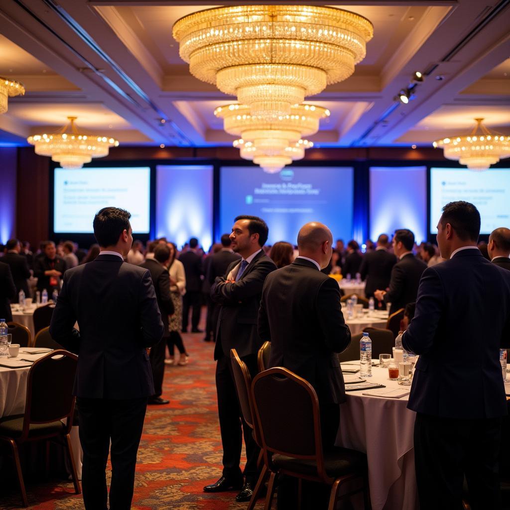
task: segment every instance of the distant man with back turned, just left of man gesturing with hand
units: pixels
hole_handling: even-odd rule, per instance
[[[388,252],[388,236],[381,234],[377,239],[375,251],[365,253],[361,263],[361,279],[366,278],[365,295],[373,297],[377,289],[384,289],[390,285],[391,270],[397,263],[393,253]]]

